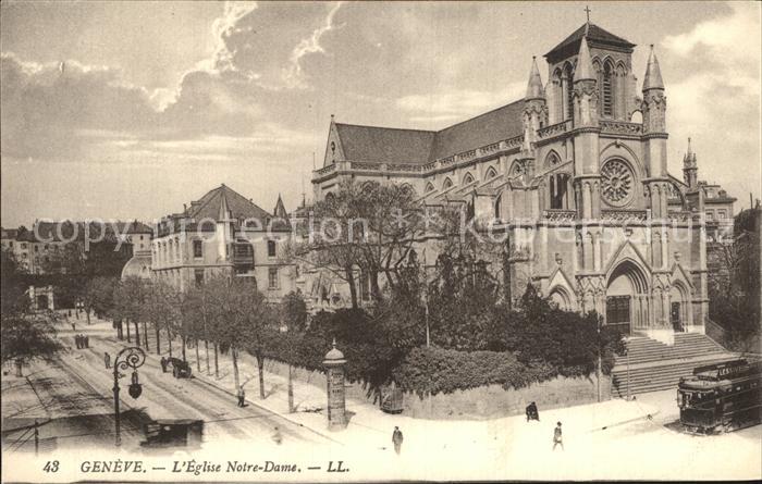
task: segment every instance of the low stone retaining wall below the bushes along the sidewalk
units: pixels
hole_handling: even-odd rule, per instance
[[[288,375],[288,367],[279,361],[267,360],[265,369],[282,376]],[[322,372],[298,368],[294,369],[294,378],[325,390],[325,375]],[[346,383],[347,398],[365,398],[373,404],[373,395],[367,394],[368,390],[361,383]],[[604,400],[611,398],[611,378],[605,375],[601,380],[601,397]],[[406,393],[403,414],[419,419],[481,420],[524,414],[526,406],[531,401],[537,402],[542,412],[552,408],[590,404],[597,399],[594,375],[589,378],[560,376],[519,389],[506,390],[500,385],[488,385],[452,394],[438,394],[430,398]]]

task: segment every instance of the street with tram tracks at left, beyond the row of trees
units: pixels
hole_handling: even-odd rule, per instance
[[[113,338],[112,331],[87,327],[83,323],[77,326],[77,332],[89,335],[90,347],[76,349],[74,332],[62,331],[60,337],[71,349],[52,364],[36,363],[29,376],[50,418],[70,420],[66,435],[61,433],[60,425],[40,427],[42,438],[59,437],[59,447],[113,442],[113,373],[105,368],[103,352],[113,357],[126,342]],[[234,396],[200,380],[176,380],[171,373],[162,374],[155,355],[147,356],[138,373],[143,395],[137,400],[127,394],[130,374],[120,378],[121,409],[126,412],[126,421],[122,422],[125,447],[138,445],[143,439],[140,423],[150,419],[200,419],[205,422],[205,443],[245,439],[248,445],[274,446],[271,437],[275,426],[280,429],[284,445],[290,442],[329,443],[319,434],[268,410],[253,405],[238,408]],[[83,419],[81,415],[90,417]],[[90,429],[93,425],[86,421],[97,421],[97,430]],[[54,431],[49,430],[53,427]],[[96,435],[107,438],[91,438]]]

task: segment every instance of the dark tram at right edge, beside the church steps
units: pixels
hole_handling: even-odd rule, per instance
[[[680,423],[701,434],[732,432],[760,423],[762,362],[726,361],[693,369],[677,385]]]

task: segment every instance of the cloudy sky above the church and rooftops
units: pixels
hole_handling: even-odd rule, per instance
[[[337,122],[440,129],[520,99],[579,2],[0,4],[0,222],[151,221],[224,183],[272,210],[310,198]],[[591,2],[649,45],[667,96],[669,171],[737,210],[760,198],[760,3]]]

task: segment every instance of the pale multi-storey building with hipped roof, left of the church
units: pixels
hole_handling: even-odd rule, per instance
[[[271,300],[294,290],[284,262],[291,226],[279,197],[269,213],[224,184],[161,219],[151,240],[151,274],[181,290],[214,274],[254,278]]]

